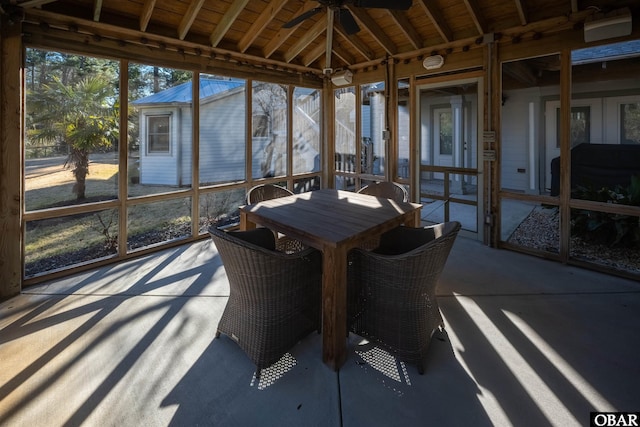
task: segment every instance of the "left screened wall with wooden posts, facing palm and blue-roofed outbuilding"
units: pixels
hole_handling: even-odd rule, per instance
[[[319,89],[42,49],[26,58],[26,279],[233,226],[259,182],[319,188]]]

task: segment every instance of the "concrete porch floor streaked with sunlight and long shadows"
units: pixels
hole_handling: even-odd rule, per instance
[[[0,425],[586,426],[640,410],[640,284],[459,237],[424,375],[311,334],[257,381],[214,339],[228,283],[205,240],[0,304]]]

